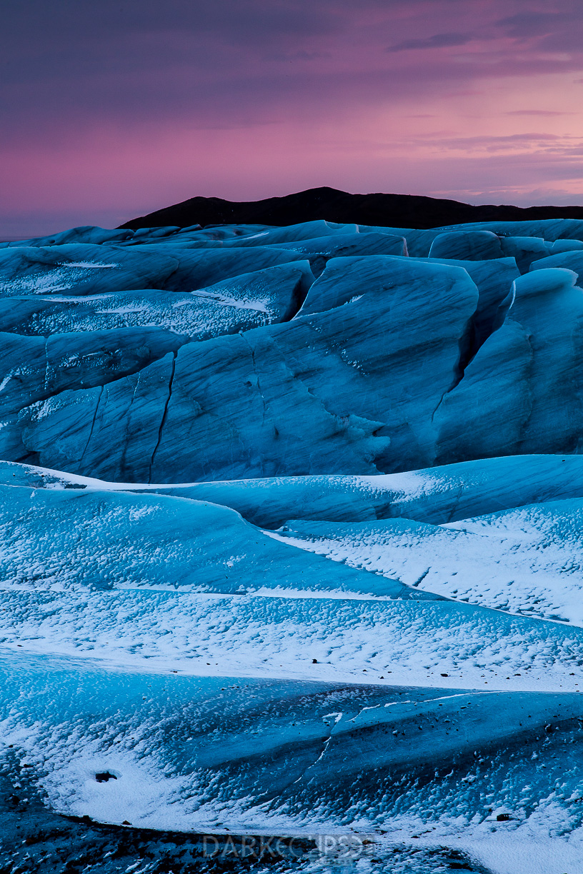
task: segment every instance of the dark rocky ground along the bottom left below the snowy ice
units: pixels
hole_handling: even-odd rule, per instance
[[[458,850],[369,844],[362,855],[323,853],[315,841],[103,825],[45,807],[25,773],[17,786],[0,775],[0,874],[489,874]],[[263,849],[261,850],[261,846]],[[259,851],[257,851],[259,850]],[[358,859],[360,865],[357,867]]]

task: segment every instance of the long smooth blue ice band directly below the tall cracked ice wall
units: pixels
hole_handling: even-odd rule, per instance
[[[286,519],[408,518],[445,524],[530,503],[583,497],[580,455],[517,455],[373,476],[267,477],[175,485],[104,482],[31,465],[0,462],[0,482],[33,489],[135,491],[223,504],[253,524]]]

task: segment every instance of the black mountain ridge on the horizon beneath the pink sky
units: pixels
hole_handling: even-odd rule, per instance
[[[120,227],[136,230],[168,225],[295,225],[316,218],[359,225],[431,228],[479,221],[583,218],[583,206],[473,206],[412,194],[350,194],[324,186],[265,200],[190,198],[132,218]]]

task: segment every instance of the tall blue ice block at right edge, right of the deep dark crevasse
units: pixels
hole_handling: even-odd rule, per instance
[[[578,451],[583,291],[576,281],[560,267],[517,279],[506,322],[435,415],[439,461],[510,454],[510,446],[527,454]]]

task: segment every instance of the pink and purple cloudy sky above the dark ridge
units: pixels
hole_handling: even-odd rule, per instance
[[[316,185],[583,204],[582,36],[573,0],[22,0],[0,234]]]

